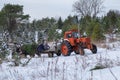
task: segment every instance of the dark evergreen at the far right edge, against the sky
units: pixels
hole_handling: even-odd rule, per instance
[[[115,10],[110,10],[107,16],[103,18],[103,29],[105,33],[113,34],[115,29],[119,28],[120,13]]]

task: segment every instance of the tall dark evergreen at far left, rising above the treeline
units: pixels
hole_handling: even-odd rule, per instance
[[[28,20],[29,15],[23,15],[23,6],[22,5],[13,5],[6,4],[2,10],[2,17],[0,20],[3,20],[1,25],[5,27],[5,30],[8,30],[10,37],[13,39],[13,33],[18,28],[18,25],[23,22],[23,20]]]

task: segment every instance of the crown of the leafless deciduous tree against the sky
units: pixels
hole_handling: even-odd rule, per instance
[[[78,0],[73,4],[73,10],[81,16],[96,17],[104,8],[102,4],[102,0]]]

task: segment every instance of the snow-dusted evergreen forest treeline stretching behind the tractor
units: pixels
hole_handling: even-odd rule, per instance
[[[79,2],[75,4],[77,3]],[[23,8],[24,6],[19,4],[5,4],[0,10],[0,33],[4,36],[4,41],[34,42],[36,31],[39,39],[44,35],[51,41],[62,38],[69,29],[80,29],[81,34],[86,33],[93,41],[102,41],[105,40],[105,34],[120,32],[118,10],[109,10],[101,17],[98,17],[97,13],[92,15],[91,12],[90,15],[69,15],[65,20],[61,17],[46,17],[30,22],[30,15],[24,14]],[[77,9],[75,5],[73,8]],[[62,30],[62,33],[57,30]]]

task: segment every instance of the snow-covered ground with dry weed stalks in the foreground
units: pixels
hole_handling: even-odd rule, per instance
[[[73,52],[67,57],[34,57],[26,66],[5,61],[0,64],[0,80],[120,80],[120,43],[108,45],[109,50],[98,48],[97,54],[85,50],[84,56]],[[92,70],[98,67],[103,69]]]

